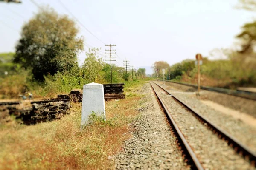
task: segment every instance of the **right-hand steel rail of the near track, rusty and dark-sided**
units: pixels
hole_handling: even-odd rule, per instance
[[[214,123],[210,122],[207,118],[202,116],[200,113],[195,111],[192,107],[187,105],[185,102],[182,102],[177,96],[171,94],[170,92],[166,91],[164,88],[162,88],[160,85],[154,82],[159,88],[161,88],[163,91],[165,91],[167,94],[170,94],[174,99],[176,99],[181,105],[183,105],[185,108],[187,108],[189,111],[194,113],[198,119],[201,119],[203,123],[207,123],[207,126],[215,133],[218,133],[218,137],[224,140],[228,141],[228,144],[235,149],[235,151],[239,154],[242,154],[245,158],[248,158],[251,162],[256,167],[256,154],[253,153],[247,146],[239,142],[236,138],[233,136],[230,136],[226,131],[222,130],[220,127],[215,125]],[[219,136],[221,135],[221,136]]]

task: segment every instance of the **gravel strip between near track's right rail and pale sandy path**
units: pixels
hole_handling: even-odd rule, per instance
[[[160,83],[156,82],[160,85]],[[166,84],[168,85],[168,84]],[[160,85],[166,89],[166,86]],[[172,88],[172,87],[171,87]],[[167,89],[166,89],[167,90]],[[249,147],[253,152],[256,153],[256,128],[246,123],[240,121],[239,119],[234,119],[230,115],[223,114],[211,108],[199,99],[196,98],[195,94],[180,94],[172,90],[167,90],[171,94],[177,96],[182,102],[185,102],[192,108],[195,108],[198,113],[212,121],[218,127],[225,130],[230,135],[234,136],[244,145]]]

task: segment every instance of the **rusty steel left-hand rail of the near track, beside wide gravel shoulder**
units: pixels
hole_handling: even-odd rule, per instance
[[[162,105],[162,108],[164,110],[164,112],[168,115],[169,119],[172,122],[172,126],[174,127],[173,130],[175,130],[177,132],[177,135],[179,136],[179,138],[181,139],[181,142],[183,143],[183,146],[185,147],[184,149],[186,150],[187,153],[189,153],[189,155],[186,155],[186,157],[189,157],[192,162],[190,162],[190,164],[192,165],[192,169],[197,169],[197,170],[204,170],[203,166],[201,165],[200,161],[197,159],[197,157],[195,156],[195,153],[193,152],[192,148],[189,146],[188,142],[186,141],[185,137],[183,136],[183,134],[181,133],[179,127],[177,126],[177,124],[175,123],[174,119],[172,118],[172,115],[169,113],[168,109],[166,108],[166,106],[163,104],[162,99],[160,98],[160,96],[157,94],[157,91],[154,89],[154,87],[151,84],[151,87],[154,90],[154,93],[157,97],[157,99],[159,100],[159,104]]]

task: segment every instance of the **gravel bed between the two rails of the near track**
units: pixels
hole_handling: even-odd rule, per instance
[[[153,85],[163,99],[169,112],[194,150],[199,161],[208,170],[250,170],[254,167],[235,153],[226,142],[208,130],[186,108],[166,95],[157,85]]]

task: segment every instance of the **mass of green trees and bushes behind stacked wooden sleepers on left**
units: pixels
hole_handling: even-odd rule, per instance
[[[84,42],[76,22],[42,8],[23,25],[15,53],[0,54],[0,99],[17,99],[26,91],[35,98],[49,98],[90,82],[111,83],[111,65],[104,62],[101,49],[89,48],[79,66],[77,56]],[[113,83],[143,78],[145,68],[126,71],[112,64]]]

